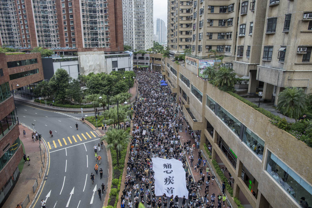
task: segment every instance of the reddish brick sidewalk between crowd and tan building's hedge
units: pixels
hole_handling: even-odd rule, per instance
[[[181,111],[179,111],[179,115],[178,115],[178,116],[179,116],[178,118],[180,118],[180,116],[182,116]],[[182,116],[182,117],[183,117],[183,116]],[[183,131],[182,131],[182,132],[179,132],[179,134],[180,134],[180,136],[181,136],[181,138],[180,138],[181,145],[183,145],[184,142],[187,142],[187,140],[190,139],[190,136],[189,136],[189,134],[188,134],[188,131],[187,131],[187,133],[185,133],[185,129],[184,129],[185,127],[187,127],[187,124],[186,124],[185,120],[183,119],[183,128],[182,128]],[[194,135],[195,135],[195,132],[196,132],[196,131],[194,131]],[[201,139],[202,139],[202,138],[201,138]],[[193,144],[193,143],[195,143],[195,141],[194,141],[194,139],[191,139],[191,144]],[[200,179],[199,170],[198,170],[198,172],[197,172],[197,170],[196,170],[196,172],[194,171],[194,165],[197,163],[197,160],[198,160],[198,152],[199,152],[199,149],[197,149],[196,146],[195,146],[195,150],[193,151],[193,155],[194,155],[193,167],[190,167],[190,171],[192,172],[193,177],[194,177],[194,179],[195,179],[196,182]],[[186,157],[187,157],[187,160],[188,160],[188,164],[190,165],[191,162],[190,162],[190,160],[188,159],[188,156],[189,156],[189,155],[186,154]],[[203,159],[204,159],[204,158],[205,158],[205,157],[203,156]],[[206,162],[206,167],[207,167],[207,164],[208,164],[208,161]],[[212,166],[212,164],[210,164],[210,166]],[[202,163],[201,163],[201,166],[200,166],[200,167],[202,167]],[[205,183],[206,183],[206,181],[207,181],[206,167],[203,168],[203,170],[202,170],[202,173],[205,174],[205,182],[204,182],[204,184],[202,185],[202,190],[198,190],[199,195],[200,195],[201,197],[203,197],[203,196],[204,196],[204,193],[205,193],[205,187],[206,187],[206,184],[205,184]],[[210,176],[212,176],[211,170],[209,171],[208,174],[210,174]],[[211,184],[211,183],[212,183],[212,180],[210,179],[209,197],[207,197],[207,198],[209,199],[209,203],[211,202],[210,196],[211,196],[213,193],[216,195],[216,200],[215,200],[215,202],[218,201],[218,200],[217,200],[218,194],[219,194],[219,193],[222,194],[222,190],[221,190],[220,187],[218,186],[216,179],[214,180],[214,183],[213,183],[213,184]],[[222,185],[221,185],[221,186],[222,186]],[[223,205],[223,203],[222,203],[222,205]],[[217,206],[217,204],[215,204],[215,206]],[[228,206],[228,203],[227,203],[227,201],[226,201],[225,207],[227,207],[227,206]]]

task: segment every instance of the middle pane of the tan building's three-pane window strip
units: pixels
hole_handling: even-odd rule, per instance
[[[241,122],[234,118],[220,105],[217,107],[217,116],[239,137],[241,131]]]

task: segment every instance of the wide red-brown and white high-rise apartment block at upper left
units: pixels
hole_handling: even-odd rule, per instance
[[[7,0],[0,9],[1,45],[66,52],[124,50],[120,0]]]

